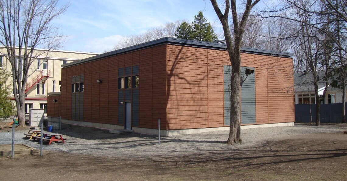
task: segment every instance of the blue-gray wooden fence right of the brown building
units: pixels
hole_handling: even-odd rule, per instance
[[[312,113],[312,122],[316,122],[316,105],[296,104],[295,105],[295,122],[309,123],[311,120],[310,108]],[[342,103],[321,104],[320,114],[321,123],[341,123]],[[347,102],[346,102],[347,113]],[[347,121],[347,117],[346,117]]]

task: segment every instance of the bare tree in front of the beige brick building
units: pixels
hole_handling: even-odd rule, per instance
[[[0,0],[0,43],[6,48],[5,56],[11,64],[20,126],[25,126],[28,70],[35,57],[40,56],[34,49],[39,47],[49,51],[60,47],[62,35],[52,26],[52,20],[67,7],[58,7],[58,0]]]

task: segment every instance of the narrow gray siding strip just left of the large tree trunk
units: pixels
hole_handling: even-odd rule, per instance
[[[230,124],[230,82],[231,65],[223,65],[223,82],[224,82],[224,124]]]

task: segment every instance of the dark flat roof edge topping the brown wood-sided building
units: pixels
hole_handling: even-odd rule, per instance
[[[189,47],[197,47],[197,48],[209,48],[209,49],[217,49],[217,50],[227,50],[227,45],[222,43],[214,43],[214,42],[206,42],[206,41],[197,41],[197,40],[187,40],[187,39],[180,39],[180,38],[170,38],[165,37],[141,44],[137,44],[131,47],[122,48],[115,51],[110,51],[104,54],[96,55],[90,58],[85,58],[82,60],[74,61],[68,64],[61,65],[61,67],[70,67],[78,64],[83,64],[89,61],[95,61],[102,58],[107,58],[115,55],[125,54],[127,52],[132,52],[136,50],[141,50],[145,48],[150,48],[154,46],[158,46],[161,44],[175,44],[175,45],[181,45],[181,46],[189,46]],[[288,52],[279,52],[279,51],[273,51],[273,50],[266,50],[266,49],[260,49],[260,48],[250,48],[250,47],[243,47],[241,48],[241,52],[245,53],[251,53],[251,54],[260,54],[260,55],[271,55],[271,56],[277,56],[277,57],[292,57],[292,53]]]

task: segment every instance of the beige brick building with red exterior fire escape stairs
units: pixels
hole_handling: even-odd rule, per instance
[[[28,72],[28,81],[25,97],[25,112],[29,113],[30,108],[42,108],[47,110],[47,93],[59,92],[61,87],[61,65],[84,58],[99,55],[98,53],[35,49],[35,60],[31,64]],[[0,47],[0,68],[11,73],[11,64],[6,58],[6,48]],[[9,77],[6,86],[12,90],[12,77]],[[46,114],[45,114],[46,115]]]

